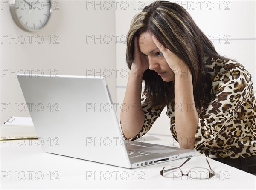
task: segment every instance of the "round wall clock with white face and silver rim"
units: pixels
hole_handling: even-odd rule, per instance
[[[42,29],[52,12],[50,0],[15,0],[11,14],[23,30],[35,32]]]

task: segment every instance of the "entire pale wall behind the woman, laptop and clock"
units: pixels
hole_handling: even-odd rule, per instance
[[[0,0],[1,3],[3,1]],[[9,3],[8,0],[6,2]],[[96,72],[111,70],[111,78],[107,78],[111,95],[114,102],[122,104],[128,72],[125,62],[125,37],[134,15],[153,1],[59,0],[55,2],[59,4],[55,3],[56,10],[52,11],[48,25],[36,33],[24,32],[18,28],[12,20],[9,7],[1,6],[1,38],[4,35],[12,38],[15,36],[18,38],[21,35],[34,35],[34,37],[31,44],[29,37],[24,44],[19,40],[17,43],[14,40],[9,43],[7,40],[0,44],[1,73],[8,72],[0,78],[2,109],[0,124],[10,116],[29,116],[28,110],[22,112],[23,110],[20,110],[22,107],[19,107],[25,103],[25,100],[17,78],[15,74],[9,76],[10,72],[15,72],[15,69],[17,72],[25,69],[27,73],[28,69],[34,69],[32,73],[41,69],[44,74],[48,74],[49,70],[55,74],[53,70],[58,69],[59,75],[86,75],[90,71],[88,69],[93,69],[93,74],[101,75]],[[108,2],[111,2],[111,9]],[[224,0],[219,3],[220,1],[206,0],[203,1],[201,8],[200,1],[176,2],[186,8],[207,36],[215,38],[213,43],[221,55],[236,58],[246,66],[253,76],[254,87],[256,87],[255,1]],[[210,10],[211,2],[214,7]],[[42,44],[35,42],[35,37],[38,35],[42,35],[44,39]],[[51,43],[49,43],[49,35],[51,35]],[[56,36],[53,37],[54,35]],[[89,35],[99,39],[102,37],[102,41],[91,40],[87,43],[86,39]],[[224,40],[219,42],[220,35],[224,40],[229,37],[227,41],[229,44],[224,43]],[[111,37],[111,43],[108,37]],[[57,40],[58,44],[54,44],[53,40]],[[115,73],[113,69],[119,69],[119,71]],[[3,109],[6,104],[8,107]],[[10,109],[9,106],[12,108]],[[165,112],[163,110],[161,117],[150,130],[151,133],[171,134]],[[117,109],[118,118],[119,114],[120,107]]]

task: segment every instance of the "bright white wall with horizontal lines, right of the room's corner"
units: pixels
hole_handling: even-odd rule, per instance
[[[153,1],[130,1],[128,9],[116,10],[116,34],[126,35],[132,18],[143,7]],[[256,1],[172,1],[183,6],[199,28],[212,39],[216,51],[227,58],[233,58],[250,71],[256,89]],[[136,6],[135,6],[136,5]],[[140,6],[143,5],[139,9]],[[120,41],[116,46],[118,69],[128,69],[125,62],[126,44]],[[117,78],[117,102],[122,104],[127,77]],[[119,109],[120,111],[120,109]],[[118,115],[119,116],[119,115]],[[151,128],[151,134],[171,135],[166,108]]]

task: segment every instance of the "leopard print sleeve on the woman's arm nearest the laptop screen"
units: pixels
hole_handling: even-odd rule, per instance
[[[142,107],[142,111],[144,112],[144,124],[140,132],[137,135],[135,135],[133,138],[128,139],[122,133],[125,140],[134,141],[137,138],[140,138],[143,135],[145,135],[150,130],[150,128],[152,127],[156,119],[160,116],[161,112],[163,111],[164,106],[153,106],[150,103],[145,103],[145,100],[146,100],[146,96],[143,95],[141,98],[141,107]]]

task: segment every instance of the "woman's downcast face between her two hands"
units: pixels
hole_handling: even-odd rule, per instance
[[[151,32],[144,32],[140,35],[138,40],[140,52],[147,58],[150,70],[157,72],[165,82],[173,81],[174,72],[152,40],[152,35]]]

